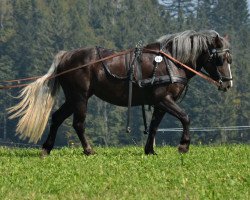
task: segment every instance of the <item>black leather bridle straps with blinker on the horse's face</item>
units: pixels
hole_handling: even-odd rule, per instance
[[[231,55],[230,50],[229,49],[211,49],[209,50],[209,58],[208,58],[208,62],[212,63],[213,66],[216,67],[216,79],[219,81],[220,84],[222,84],[223,82],[227,82],[227,81],[231,81],[233,80],[233,78],[228,77],[228,76],[222,76],[221,73],[218,70],[219,66],[223,65],[223,61],[220,59],[219,54],[222,53],[226,53],[227,55],[227,62],[231,63],[229,57]]]

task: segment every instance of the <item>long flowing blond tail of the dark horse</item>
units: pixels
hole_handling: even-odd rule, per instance
[[[52,78],[66,51],[60,51],[44,76],[30,83],[20,92],[17,97],[21,101],[8,108],[10,119],[19,118],[16,134],[21,139],[29,139],[29,142],[37,143],[46,128],[48,118],[54,105],[56,94],[59,90],[59,82]],[[51,78],[50,78],[51,77]]]

